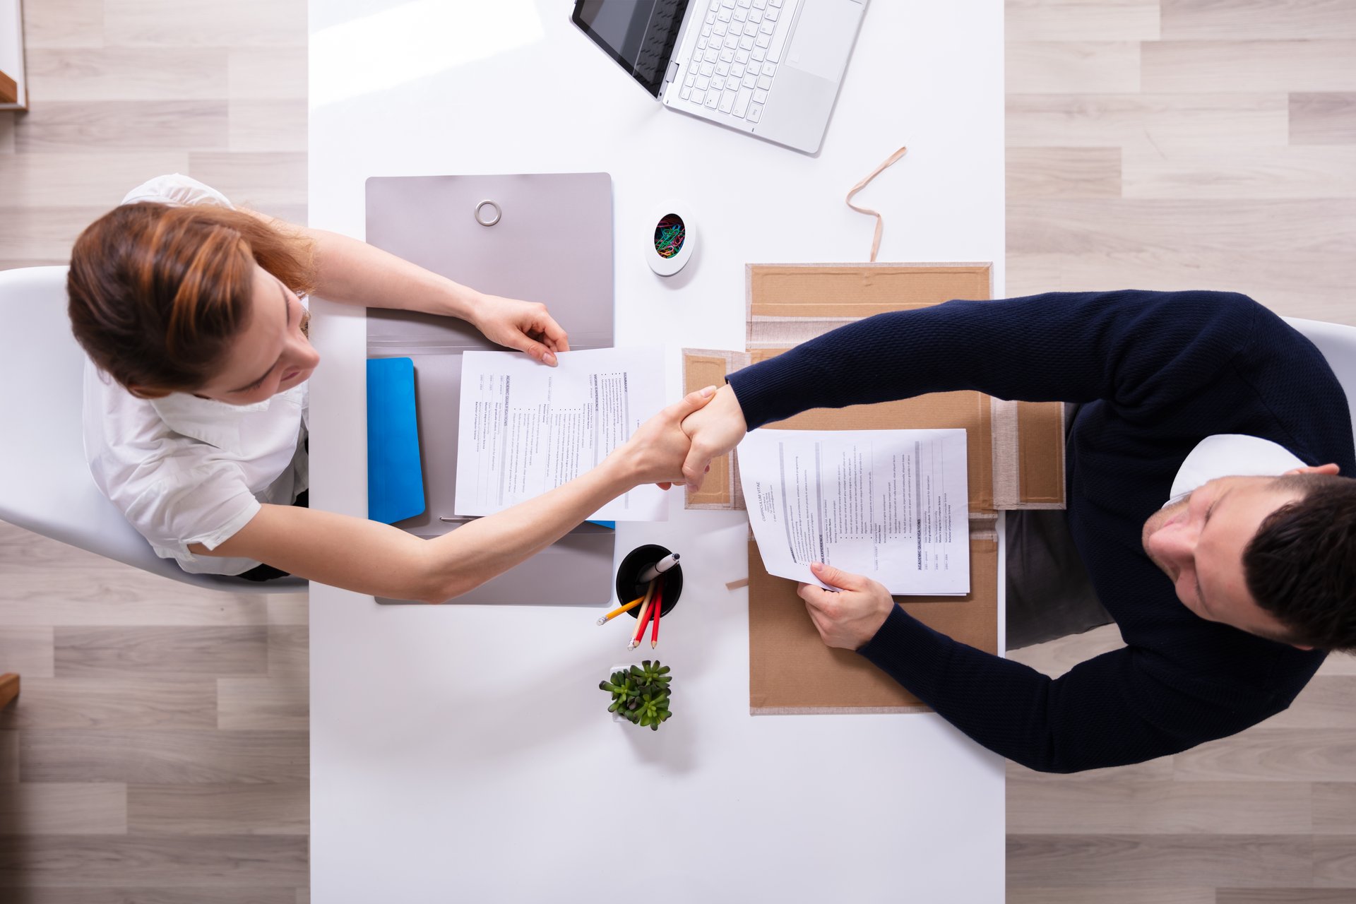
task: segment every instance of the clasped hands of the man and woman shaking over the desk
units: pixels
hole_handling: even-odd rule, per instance
[[[643,423],[609,455],[626,482],[701,487],[711,459],[739,445],[749,426],[728,385],[687,393]]]

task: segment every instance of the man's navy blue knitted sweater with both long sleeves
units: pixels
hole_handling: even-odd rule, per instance
[[[1243,295],[951,301],[842,327],[728,381],[750,430],[810,408],[956,389],[1083,403],[1066,451],[1069,525],[1127,646],[1050,679],[896,606],[860,651],[997,754],[1051,773],[1174,754],[1281,712],[1323,660],[1195,615],[1140,542],[1182,459],[1214,434],[1261,436],[1356,474],[1332,370]]]

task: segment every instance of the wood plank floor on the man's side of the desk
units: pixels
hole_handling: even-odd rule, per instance
[[[1009,0],[1008,148],[1009,294],[1231,289],[1356,324],[1352,0]],[[1010,904],[1356,901],[1349,657],[1234,739],[1008,777]]]

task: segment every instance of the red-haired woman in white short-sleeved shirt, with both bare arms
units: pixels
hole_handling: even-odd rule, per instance
[[[85,454],[95,482],[156,553],[194,573],[285,573],[442,602],[546,548],[607,500],[682,476],[682,419],[650,419],[594,470],[437,539],[306,506],[306,295],[461,317],[555,365],[545,306],[487,295],[365,243],[236,209],[161,176],[76,241],[71,323],[89,355]]]

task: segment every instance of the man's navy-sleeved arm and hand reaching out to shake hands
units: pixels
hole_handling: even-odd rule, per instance
[[[1050,293],[876,314],[727,377],[683,423],[689,487],[747,430],[811,408],[976,389],[1022,401],[1112,400],[1153,417],[1214,379],[1262,309],[1215,291]]]

